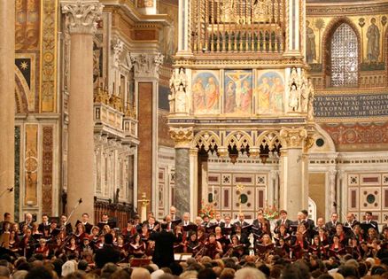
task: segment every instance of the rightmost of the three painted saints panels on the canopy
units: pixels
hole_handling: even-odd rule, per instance
[[[258,112],[263,114],[283,112],[283,72],[259,71],[257,82]]]

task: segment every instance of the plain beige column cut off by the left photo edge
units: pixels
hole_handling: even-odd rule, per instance
[[[0,212],[14,212],[15,1],[0,1]],[[2,217],[3,218],[3,217]]]

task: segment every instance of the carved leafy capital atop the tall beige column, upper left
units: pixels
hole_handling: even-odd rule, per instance
[[[62,13],[68,19],[70,34],[90,34],[97,30],[97,20],[103,12],[103,4],[97,0],[65,0]]]

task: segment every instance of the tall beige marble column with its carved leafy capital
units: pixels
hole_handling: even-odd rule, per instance
[[[82,199],[71,221],[89,213],[94,222],[93,35],[102,12],[97,0],[62,1],[70,33],[70,95],[67,159],[67,214]]]

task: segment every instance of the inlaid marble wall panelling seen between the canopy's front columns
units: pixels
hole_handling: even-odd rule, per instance
[[[236,219],[241,210],[246,219],[253,219],[256,211],[266,206],[268,189],[266,173],[210,172],[207,179],[208,193],[214,192],[214,207],[222,215],[230,214]],[[244,188],[240,190],[237,185]]]

